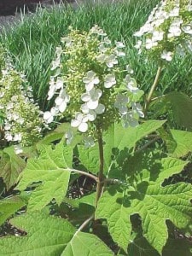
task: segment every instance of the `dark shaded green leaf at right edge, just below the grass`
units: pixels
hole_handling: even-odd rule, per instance
[[[192,128],[192,100],[182,92],[174,91],[166,95],[166,102],[171,103],[173,119],[177,125]]]

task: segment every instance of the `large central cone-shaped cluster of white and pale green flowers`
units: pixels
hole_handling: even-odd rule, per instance
[[[120,58],[125,56],[122,42],[112,46],[107,34],[99,26],[90,32],[71,30],[64,45],[56,48],[51,69],[48,100],[54,97],[55,105],[44,113],[47,124],[55,116],[71,118],[67,143],[73,139],[73,129],[84,133],[84,145],[94,145],[94,127],[107,129],[113,121],[122,120],[125,127],[138,124],[143,117],[138,103],[143,91],[131,78],[131,67],[122,68]],[[125,79],[124,79],[124,78]]]

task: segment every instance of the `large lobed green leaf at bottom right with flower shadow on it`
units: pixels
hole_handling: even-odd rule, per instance
[[[189,224],[192,186],[177,183],[162,187],[167,177],[181,172],[186,164],[174,158],[161,159],[152,153],[136,154],[125,160],[121,172],[125,173],[126,183],[106,191],[96,209],[96,218],[107,219],[109,232],[120,247],[126,250],[131,241],[133,214],[140,215],[143,236],[159,253],[168,237],[166,219],[178,228]]]

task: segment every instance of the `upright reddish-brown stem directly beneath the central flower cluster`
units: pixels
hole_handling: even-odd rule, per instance
[[[96,207],[99,201],[99,198],[102,194],[102,187],[103,187],[103,171],[104,171],[104,154],[103,154],[103,141],[102,141],[102,129],[100,126],[97,126],[97,135],[98,135],[98,145],[99,145],[99,173],[98,173],[98,180],[96,184]]]

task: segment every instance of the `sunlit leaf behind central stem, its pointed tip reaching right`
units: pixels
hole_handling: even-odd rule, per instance
[[[110,172],[114,148],[118,148],[118,150],[133,148],[140,139],[156,131],[164,123],[164,120],[148,120],[142,125],[134,128],[128,127],[126,129],[121,124],[112,125],[103,137],[103,141],[105,142],[104,172],[106,174]],[[98,144],[93,148],[86,149],[83,146],[79,146],[78,149],[79,159],[84,167],[90,172],[97,173],[99,170]]]

